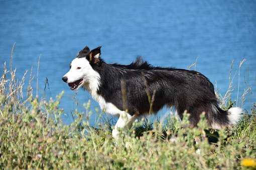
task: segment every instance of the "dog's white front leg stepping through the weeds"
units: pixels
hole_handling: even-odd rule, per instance
[[[136,115],[130,115],[129,113],[122,111],[120,113],[120,116],[112,130],[112,136],[114,139],[118,139],[119,137],[119,131],[118,128],[124,129],[124,128],[130,128],[133,124],[133,121],[136,119]]]

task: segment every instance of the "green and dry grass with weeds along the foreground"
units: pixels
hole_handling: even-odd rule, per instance
[[[30,75],[30,77],[32,77]],[[62,123],[55,99],[33,97],[31,80],[4,68],[0,78],[0,168],[55,169],[240,169],[256,168],[256,105],[232,128],[207,128],[204,115],[197,128],[168,116],[166,123],[139,121],[111,137],[109,121],[90,126],[90,103],[74,122]],[[156,101],[157,102],[157,101]],[[233,102],[225,100],[223,107]]]

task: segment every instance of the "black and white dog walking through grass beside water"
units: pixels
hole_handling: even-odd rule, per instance
[[[137,116],[157,112],[165,105],[174,106],[180,118],[185,110],[190,113],[191,126],[197,125],[202,112],[217,129],[240,119],[242,108],[221,109],[213,84],[200,72],[156,67],[140,57],[129,65],[108,64],[100,58],[100,47],[90,50],[85,46],[62,79],[72,90],[88,90],[105,112],[120,115],[112,131],[114,138],[117,128],[130,126]],[[121,84],[125,84],[124,92]],[[153,104],[149,96],[154,97]]]

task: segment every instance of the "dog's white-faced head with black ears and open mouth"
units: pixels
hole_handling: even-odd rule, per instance
[[[70,89],[78,89],[84,83],[95,76],[96,71],[93,69],[99,61],[100,47],[90,49],[85,46],[70,63],[70,70],[62,77],[67,82]]]

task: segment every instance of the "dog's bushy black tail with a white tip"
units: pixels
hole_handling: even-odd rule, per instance
[[[208,120],[212,128],[220,129],[236,124],[241,119],[243,112],[244,110],[240,107],[223,110],[217,104],[213,104]]]

